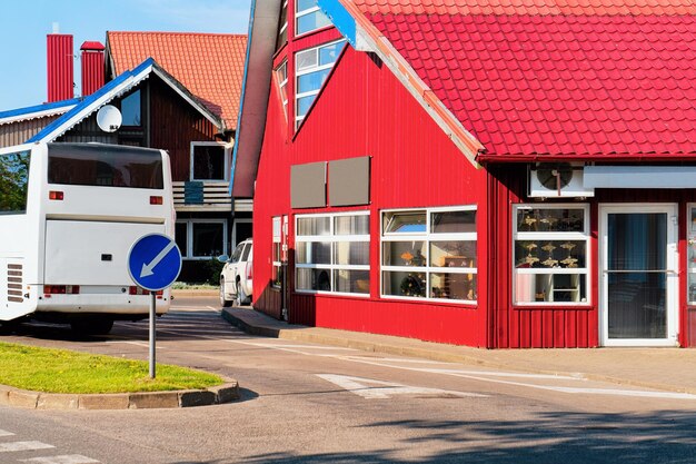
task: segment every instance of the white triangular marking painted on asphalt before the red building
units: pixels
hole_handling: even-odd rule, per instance
[[[381,382],[371,378],[349,377],[347,375],[335,374],[317,374],[317,377],[324,378],[350,393],[362,396],[368,399],[389,398],[394,395],[425,395],[439,397],[487,397],[478,393],[454,392],[450,389],[414,387],[408,385],[395,384],[392,382]],[[369,386],[374,385],[374,386]]]

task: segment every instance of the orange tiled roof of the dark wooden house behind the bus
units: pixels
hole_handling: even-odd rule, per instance
[[[107,32],[115,73],[153,58],[167,72],[225,119],[237,126],[247,36],[188,32]]]

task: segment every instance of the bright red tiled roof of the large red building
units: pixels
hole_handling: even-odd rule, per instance
[[[489,155],[696,152],[689,0],[352,0]]]

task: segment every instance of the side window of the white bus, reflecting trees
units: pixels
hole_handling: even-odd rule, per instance
[[[30,151],[0,155],[0,215],[27,211]]]

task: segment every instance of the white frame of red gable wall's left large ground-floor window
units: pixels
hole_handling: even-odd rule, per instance
[[[342,243],[342,241],[366,241],[370,244],[370,234],[365,235],[335,235],[335,221],[336,217],[340,216],[367,216],[368,220],[370,220],[370,211],[369,210],[358,210],[358,211],[346,211],[346,213],[327,213],[327,214],[310,214],[310,215],[296,215],[295,216],[295,246],[297,247],[298,243],[330,243],[331,244],[331,261],[334,261],[334,244]],[[329,235],[298,235],[297,231],[299,219],[310,218],[310,217],[328,217],[330,220],[329,226]],[[369,263],[369,256],[368,256]],[[330,270],[329,280],[331,283],[331,287],[334,287],[334,270],[370,270],[370,266],[368,265],[337,265],[337,264],[300,264],[295,263],[295,292],[301,294],[319,294],[319,295],[349,295],[356,296],[360,298],[369,298],[370,293],[359,294],[359,293],[350,293],[350,292],[327,292],[327,290],[312,290],[312,289],[300,289],[298,288],[297,279],[299,276],[298,269],[327,269]]]

